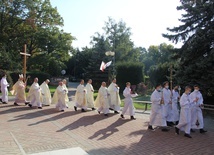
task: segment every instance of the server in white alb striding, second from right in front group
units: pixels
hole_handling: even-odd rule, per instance
[[[181,106],[181,113],[178,125],[175,126],[175,133],[179,135],[179,130],[183,130],[185,132],[184,136],[188,138],[192,138],[190,136],[190,129],[191,129],[191,106],[194,102],[198,101],[196,97],[194,100],[190,100],[190,92],[191,87],[186,86],[185,92],[181,96],[180,99],[180,106]]]

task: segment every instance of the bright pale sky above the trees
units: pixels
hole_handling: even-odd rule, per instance
[[[160,45],[165,42],[175,47],[162,37],[167,33],[167,27],[179,26],[180,11],[176,7],[179,0],[50,0],[57,7],[64,19],[62,29],[71,33],[77,40],[73,41],[75,48],[90,47],[91,36],[95,32],[103,33],[102,27],[108,17],[116,22],[123,20],[131,28],[131,40],[136,47],[148,48],[150,45]]]

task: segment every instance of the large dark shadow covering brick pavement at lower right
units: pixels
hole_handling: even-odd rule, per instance
[[[213,154],[213,134],[192,134],[189,139],[180,135],[175,135],[174,130],[161,132],[161,130],[148,131],[139,130],[127,136],[142,135],[139,142],[133,142],[130,146],[120,145],[111,148],[97,148],[87,151],[90,155],[186,155],[186,154]],[[211,136],[212,135],[212,136]],[[202,140],[202,141],[201,141]],[[200,141],[200,142],[199,142]],[[206,142],[205,142],[206,141]],[[124,142],[121,140],[121,142]],[[107,146],[108,147],[108,146]],[[191,153],[190,153],[191,152]]]

